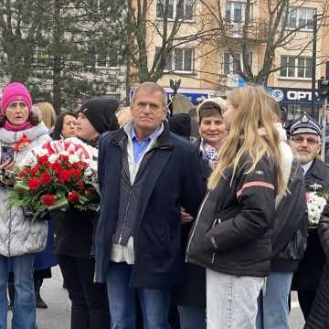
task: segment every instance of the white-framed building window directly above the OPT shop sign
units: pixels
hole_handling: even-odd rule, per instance
[[[296,58],[281,56],[281,77],[286,78],[312,78],[312,58]]]

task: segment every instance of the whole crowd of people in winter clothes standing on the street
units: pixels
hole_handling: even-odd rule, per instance
[[[8,305],[13,329],[37,327],[57,264],[71,329],[286,329],[292,290],[305,328],[328,327],[329,207],[318,228],[308,218],[329,188],[319,123],[303,114],[286,131],[258,86],[203,101],[193,118],[167,104],[143,82],[130,108],[94,98],[56,115],[23,84],[5,86],[1,150],[29,144],[0,164],[0,329]],[[9,203],[17,164],[70,137],[99,150],[99,211],[26,220]]]

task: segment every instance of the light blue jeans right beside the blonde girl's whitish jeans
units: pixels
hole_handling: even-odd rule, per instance
[[[293,272],[271,271],[266,281],[266,291],[260,293],[257,329],[288,328],[292,275]]]

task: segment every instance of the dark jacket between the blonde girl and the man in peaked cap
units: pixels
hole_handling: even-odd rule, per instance
[[[288,193],[281,200],[272,223],[271,271],[296,271],[307,244],[307,204],[302,166],[294,159]]]

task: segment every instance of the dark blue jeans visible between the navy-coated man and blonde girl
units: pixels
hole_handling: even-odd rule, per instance
[[[206,329],[206,309],[178,306],[181,329]]]

